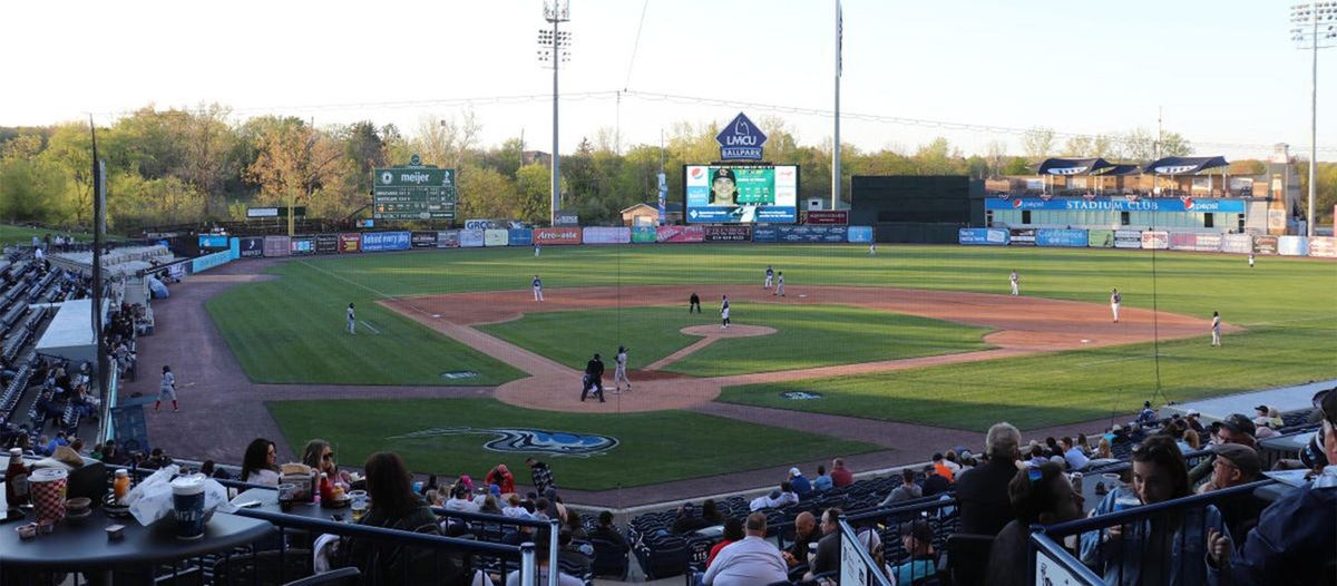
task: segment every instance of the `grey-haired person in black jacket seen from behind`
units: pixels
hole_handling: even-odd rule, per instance
[[[988,462],[961,474],[956,499],[961,503],[961,532],[997,535],[1012,520],[1008,483],[1016,475],[1021,433],[1009,423],[997,423],[984,437]]]

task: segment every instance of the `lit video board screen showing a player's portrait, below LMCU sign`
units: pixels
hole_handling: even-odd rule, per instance
[[[798,166],[685,165],[687,223],[798,222]]]

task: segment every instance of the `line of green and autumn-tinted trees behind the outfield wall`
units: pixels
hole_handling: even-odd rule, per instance
[[[758,120],[769,140],[766,158],[800,165],[800,197],[830,197],[832,144],[798,143],[779,118]],[[548,161],[532,155],[521,138],[481,144],[481,122],[472,114],[441,120],[424,116],[405,132],[370,120],[316,126],[297,116],[263,115],[235,122],[230,108],[158,110],[152,106],[98,128],[107,162],[108,225],[131,231],[155,225],[242,219],[249,206],[305,206],[309,217],[369,217],[372,170],[424,163],[459,170],[457,218],[516,218],[544,223],[550,215]],[[618,223],[620,210],[656,199],[658,173],[667,174],[670,201],[681,199],[682,166],[719,158],[717,124],[681,122],[664,144],[618,149],[611,128],[596,128],[562,158],[562,209],[583,223]],[[1189,154],[1191,143],[1170,132],[1159,153]],[[1106,157],[1146,162],[1157,139],[1146,130],[1070,138],[1034,128],[1021,138],[1024,154],[993,142],[984,154],[965,155],[945,138],[913,150],[861,150],[844,144],[841,171],[849,198],[853,175],[1032,174],[1051,155]],[[92,138],[88,124],[0,127],[0,218],[60,227],[92,221]],[[1337,166],[1322,170],[1332,209]],[[1322,206],[1321,206],[1322,207]]]

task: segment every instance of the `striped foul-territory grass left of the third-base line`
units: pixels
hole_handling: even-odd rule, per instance
[[[283,278],[237,286],[205,306],[254,383],[492,385],[523,375],[376,305],[377,297],[289,262]],[[360,321],[356,336],[345,330],[349,302]],[[479,376],[447,381],[447,371]]]

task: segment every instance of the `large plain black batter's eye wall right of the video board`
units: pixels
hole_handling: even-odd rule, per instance
[[[849,223],[873,226],[878,242],[956,243],[983,225],[984,182],[965,175],[854,175]]]

